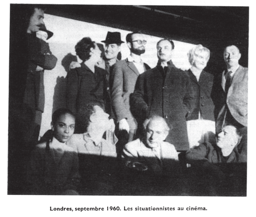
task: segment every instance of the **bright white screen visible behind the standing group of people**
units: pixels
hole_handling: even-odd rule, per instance
[[[65,107],[67,65],[76,55],[76,43],[83,37],[90,37],[96,43],[102,43],[101,41],[105,40],[108,31],[119,31],[122,41],[125,41],[126,35],[131,32],[49,14],[45,14],[44,17],[47,29],[54,33],[47,42],[52,54],[58,58],[58,62],[54,69],[45,70],[44,73],[45,108],[42,115],[40,137],[50,129],[52,112],[58,108]],[[151,68],[157,64],[156,44],[160,39],[160,37],[145,35],[147,44],[145,54],[142,54],[142,59]],[[173,63],[177,68],[189,69],[187,52],[194,45],[175,40],[174,43]],[[102,44],[104,45],[104,43]],[[130,54],[126,43],[121,45],[121,54],[122,59],[125,59]]]

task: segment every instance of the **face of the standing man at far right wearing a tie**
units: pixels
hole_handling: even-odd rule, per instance
[[[224,60],[227,65],[227,68],[238,66],[240,58],[241,54],[236,46],[232,45],[226,47],[224,51]]]

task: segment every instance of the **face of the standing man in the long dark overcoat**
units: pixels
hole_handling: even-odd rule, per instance
[[[162,40],[157,44],[157,57],[161,62],[172,59],[172,44],[168,40]]]

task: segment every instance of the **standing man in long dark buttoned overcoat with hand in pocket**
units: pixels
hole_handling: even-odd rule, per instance
[[[194,106],[194,93],[189,76],[172,63],[172,40],[157,43],[158,65],[138,77],[134,94],[131,95],[131,111],[137,120],[159,115],[173,126],[166,142],[177,151],[189,149],[186,117]]]

